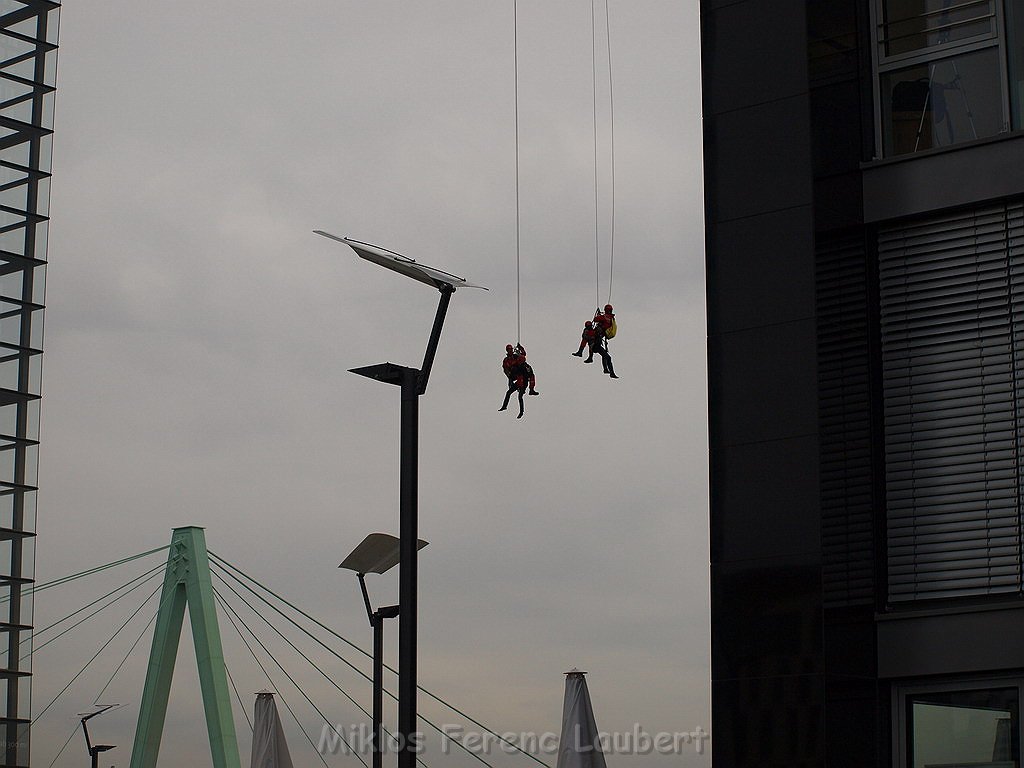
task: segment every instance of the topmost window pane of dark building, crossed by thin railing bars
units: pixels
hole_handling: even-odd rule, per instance
[[[885,0],[885,55],[995,35],[995,0]]]

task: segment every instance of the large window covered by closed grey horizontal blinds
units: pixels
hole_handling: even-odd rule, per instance
[[[1024,207],[879,233],[890,602],[1021,591]]]

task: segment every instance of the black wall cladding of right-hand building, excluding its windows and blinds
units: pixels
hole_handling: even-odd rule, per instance
[[[715,765],[902,765],[896,686],[1019,674],[1024,603],[889,599],[878,231],[1024,135],[878,160],[868,0],[700,5]]]

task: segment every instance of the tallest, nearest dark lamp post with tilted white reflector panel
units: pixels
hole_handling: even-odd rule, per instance
[[[458,288],[483,288],[465,279],[436,267],[419,264],[413,259],[369,243],[314,230],[316,234],[344,243],[359,258],[373,261],[392,271],[399,272],[440,292],[434,325],[430,329],[427,350],[419,369],[382,362],[377,366],[354,368],[353,374],[395,384],[401,387],[401,469],[399,496],[399,564],[398,564],[398,734],[400,749],[398,768],[416,765],[416,579],[417,542],[419,542],[419,514],[417,511],[420,395],[427,391],[427,380],[437,351],[437,342],[444,325],[452,294]],[[486,290],[483,288],[483,290]]]

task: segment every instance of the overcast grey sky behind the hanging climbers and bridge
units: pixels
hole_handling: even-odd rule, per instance
[[[398,399],[346,371],[418,365],[436,293],[311,233],[324,228],[490,288],[455,295],[421,406],[421,682],[499,730],[557,730],[574,666],[590,673],[602,729],[710,727],[697,3],[610,0],[611,381],[569,356],[598,298],[591,4],[518,2],[522,342],[542,392],[518,422],[497,413],[516,333],[512,8],[65,5],[37,578],[198,524],[213,551],[369,641],[355,581],[336,565],[367,532],[397,532]],[[605,67],[599,56],[606,196]],[[606,260],[600,280],[603,303]],[[41,594],[37,626],[145,567]],[[396,580],[374,589],[388,601]],[[148,590],[39,651],[37,712]],[[36,764],[139,632],[46,714]],[[223,632],[240,688],[266,687]],[[104,695],[127,705],[102,726],[119,765],[145,651],[147,640]],[[302,676],[332,719],[356,722]],[[369,703],[367,686],[345,685]],[[318,765],[288,728],[296,763]],[[76,740],[57,766],[79,753]],[[209,764],[187,649],[162,764]],[[613,764],[709,763],[686,752]]]

